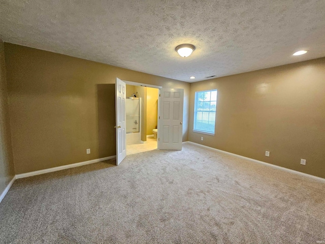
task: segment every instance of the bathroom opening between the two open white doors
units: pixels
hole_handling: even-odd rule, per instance
[[[126,100],[139,103],[139,109],[125,108],[126,128],[130,129],[126,131],[126,155],[157,149],[159,88],[125,82]],[[139,116],[135,111],[139,111]]]

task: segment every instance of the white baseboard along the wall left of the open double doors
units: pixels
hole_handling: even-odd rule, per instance
[[[114,158],[116,158],[116,155],[101,158],[101,159],[88,160],[88,161],[75,163],[75,164],[62,165],[62,166],[49,168],[49,169],[42,169],[42,170],[32,171],[32,172],[23,173],[23,174],[16,174],[16,179],[25,178],[25,177],[34,176],[34,175],[39,175],[39,174],[46,174],[46,173],[59,171],[59,170],[63,170],[63,169],[75,168],[75,167],[79,167],[79,166],[83,166],[83,165],[87,165],[87,164],[94,164],[94,163],[98,163],[98,162],[101,162],[101,161],[114,159]]]

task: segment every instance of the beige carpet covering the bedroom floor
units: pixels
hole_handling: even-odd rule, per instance
[[[317,243],[325,184],[184,143],[18,179],[1,243]]]

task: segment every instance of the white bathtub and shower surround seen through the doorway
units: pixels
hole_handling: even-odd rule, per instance
[[[141,143],[141,98],[126,98],[126,144]]]

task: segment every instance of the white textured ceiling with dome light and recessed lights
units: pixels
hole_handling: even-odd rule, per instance
[[[187,82],[323,57],[324,23],[324,0],[0,0],[5,42]]]

